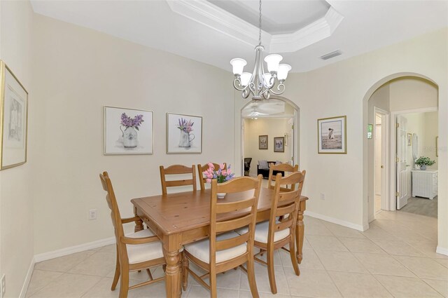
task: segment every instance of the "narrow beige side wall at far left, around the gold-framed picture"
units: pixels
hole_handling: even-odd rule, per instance
[[[0,1],[0,59],[29,92],[28,162],[0,172],[0,276],[6,275],[6,297],[19,297],[34,255],[34,109],[38,104],[31,81],[32,22],[28,1]]]

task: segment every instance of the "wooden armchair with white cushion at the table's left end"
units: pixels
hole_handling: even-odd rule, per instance
[[[103,172],[102,174],[99,174],[99,178],[101,179],[103,189],[107,191],[106,201],[111,209],[112,224],[116,238],[116,269],[111,290],[116,289],[118,279],[121,276],[120,297],[127,297],[128,290],[144,285],[150,285],[151,283],[165,279],[165,276],[154,279],[151,275],[151,271],[149,271],[153,266],[165,265],[162,243],[149,229],[144,229],[137,233],[131,233],[125,236],[123,224],[139,222],[141,219],[139,217],[121,218],[109,174]],[[146,269],[148,272],[149,280],[130,287],[130,271],[141,271],[143,269]]]

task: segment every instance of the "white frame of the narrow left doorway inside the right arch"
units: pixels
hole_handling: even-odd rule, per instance
[[[381,115],[381,159],[384,161],[384,175],[381,175],[381,209],[383,210],[392,210],[391,209],[391,201],[393,201],[391,196],[388,196],[390,187],[390,179],[389,175],[389,126],[390,126],[390,113],[384,109],[380,109],[379,107],[373,107],[374,116],[376,119],[377,114]],[[375,120],[375,130],[374,137],[376,138],[377,130],[376,130],[376,120]],[[375,139],[374,139],[375,140]],[[377,144],[373,142],[373,165],[376,165],[376,153]],[[375,175],[373,178],[373,189],[375,189]],[[373,207],[374,208],[374,207]],[[375,212],[374,217],[375,217]]]

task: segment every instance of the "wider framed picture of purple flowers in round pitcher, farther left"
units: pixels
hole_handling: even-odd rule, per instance
[[[104,154],[153,154],[152,111],[104,107]]]

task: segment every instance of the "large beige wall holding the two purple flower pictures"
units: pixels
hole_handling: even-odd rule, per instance
[[[232,74],[41,15],[34,26],[36,254],[113,236],[103,170],[127,217],[131,198],[160,194],[159,165],[232,163]],[[154,111],[154,154],[104,156],[104,105]],[[167,112],[203,117],[202,154],[165,153]]]

